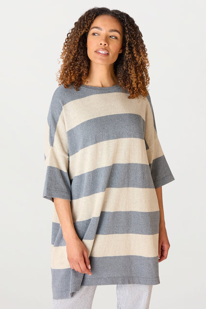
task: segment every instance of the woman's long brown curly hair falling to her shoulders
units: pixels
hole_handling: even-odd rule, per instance
[[[106,7],[94,7],[86,11],[74,24],[63,44],[60,58],[62,64],[57,72],[56,80],[64,87],[74,84],[78,88],[86,81],[89,73],[90,59],[87,55],[87,35],[94,19],[99,15],[110,15],[119,20],[123,28],[123,52],[118,55],[114,65],[114,73],[118,84],[128,90],[129,99],[148,95],[149,60],[142,33],[134,19],[119,10]]]

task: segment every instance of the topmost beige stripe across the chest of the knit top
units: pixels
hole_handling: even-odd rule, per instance
[[[74,100],[63,106],[66,130],[68,131],[84,121],[112,114],[134,113],[145,119],[145,103],[147,101],[142,96],[128,99],[126,93],[104,93]]]

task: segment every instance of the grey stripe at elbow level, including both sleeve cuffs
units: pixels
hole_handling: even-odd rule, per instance
[[[103,182],[103,179],[106,181]],[[157,188],[172,180],[174,177],[164,155],[154,159],[150,165],[115,163],[75,176],[73,180],[69,179],[68,173],[48,166],[43,197],[51,201],[52,197],[71,201],[104,192],[106,188]]]

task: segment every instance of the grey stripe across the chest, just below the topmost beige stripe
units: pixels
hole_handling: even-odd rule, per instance
[[[69,155],[110,139],[126,137],[144,139],[144,132],[145,121],[137,114],[113,114],[89,119],[67,131]]]

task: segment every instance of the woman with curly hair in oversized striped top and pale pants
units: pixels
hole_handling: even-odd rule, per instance
[[[85,12],[67,34],[48,114],[43,197],[51,200],[54,308],[149,308],[170,247],[162,185],[174,177],[148,93],[142,34],[126,13]]]

